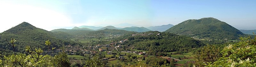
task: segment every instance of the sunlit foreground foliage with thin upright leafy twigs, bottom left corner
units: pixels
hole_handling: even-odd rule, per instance
[[[8,44],[15,47],[15,39],[11,39]],[[59,53],[54,57],[47,55],[51,50],[55,48],[50,48],[51,42],[49,40],[45,41],[44,49],[48,49],[47,51],[43,51],[41,48],[33,48],[31,46],[26,47],[26,51],[28,54],[16,53],[10,56],[4,56],[3,59],[0,60],[0,66],[15,66],[15,67],[70,67],[69,60],[67,55],[64,53]]]

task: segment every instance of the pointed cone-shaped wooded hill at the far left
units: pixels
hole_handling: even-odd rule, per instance
[[[15,42],[15,50],[18,52],[25,52],[26,46],[34,46],[34,47],[43,47],[46,40],[50,40],[52,47],[61,47],[62,40],[57,39],[56,34],[43,30],[40,28],[36,28],[35,26],[23,22],[15,27],[12,27],[9,30],[0,33],[0,47],[4,50],[13,50],[10,45],[8,45],[11,38],[16,40]]]

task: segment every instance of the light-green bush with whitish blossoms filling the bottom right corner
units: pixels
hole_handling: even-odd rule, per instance
[[[229,44],[222,51],[220,57],[213,64],[208,66],[219,67],[255,67],[256,66],[256,36],[241,37],[236,44]]]

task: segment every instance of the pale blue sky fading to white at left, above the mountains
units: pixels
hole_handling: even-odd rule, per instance
[[[129,23],[176,25],[213,17],[237,29],[256,29],[256,0],[0,0],[0,32],[22,22],[54,30]]]

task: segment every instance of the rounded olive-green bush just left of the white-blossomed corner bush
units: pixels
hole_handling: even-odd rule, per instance
[[[218,60],[219,57],[221,57],[220,48],[214,45],[207,45],[202,47],[201,51],[196,52],[194,56],[195,65],[199,67],[207,66]]]

